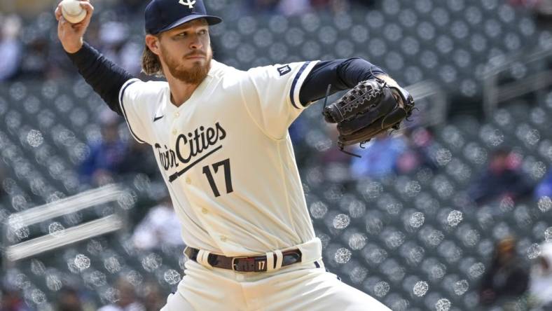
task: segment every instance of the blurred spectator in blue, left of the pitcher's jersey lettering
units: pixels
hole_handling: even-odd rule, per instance
[[[78,173],[86,184],[103,185],[113,181],[125,161],[127,144],[118,135],[118,117],[111,111],[100,115],[102,140],[91,144],[90,154],[81,163]]]

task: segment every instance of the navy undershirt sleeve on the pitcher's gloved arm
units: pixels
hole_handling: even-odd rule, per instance
[[[380,67],[361,58],[348,60],[324,60],[315,65],[299,91],[301,104],[306,106],[326,96],[331,84],[330,95],[340,90],[354,88],[361,81],[385,74]]]

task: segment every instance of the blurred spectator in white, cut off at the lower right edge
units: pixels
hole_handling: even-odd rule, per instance
[[[552,310],[552,242],[541,246],[541,254],[531,269],[529,288],[534,307]]]

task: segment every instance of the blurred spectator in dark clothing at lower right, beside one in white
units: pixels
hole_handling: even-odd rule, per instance
[[[495,247],[490,267],[481,279],[483,305],[504,306],[527,291],[529,273],[516,252],[516,240],[506,237]]]

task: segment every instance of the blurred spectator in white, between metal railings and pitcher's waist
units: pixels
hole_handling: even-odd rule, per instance
[[[184,245],[180,236],[181,227],[174,213],[170,197],[167,196],[136,226],[132,235],[138,249],[161,249],[163,245],[179,247]]]

